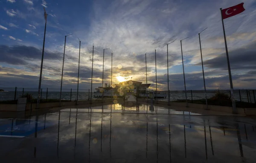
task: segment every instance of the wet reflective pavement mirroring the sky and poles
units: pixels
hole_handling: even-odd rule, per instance
[[[2,118],[1,162],[255,163],[255,117],[153,109],[116,104]]]

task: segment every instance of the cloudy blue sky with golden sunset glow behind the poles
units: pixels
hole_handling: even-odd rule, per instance
[[[121,78],[167,90],[184,90],[180,40],[187,90],[203,90],[198,33],[208,90],[229,89],[227,57],[220,8],[241,0],[0,0],[0,88],[38,88],[47,11],[42,88],[60,89],[64,39],[67,36],[63,89],[93,90]],[[244,0],[245,11],[224,20],[234,89],[255,89],[256,0]],[[79,39],[78,39],[79,38]]]

